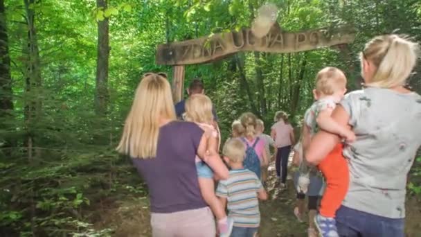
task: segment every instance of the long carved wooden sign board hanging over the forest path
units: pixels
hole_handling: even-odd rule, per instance
[[[283,32],[272,27],[265,37],[258,38],[251,30],[219,33],[195,40],[160,44],[156,49],[156,64],[183,65],[220,60],[240,51],[294,53],[320,47],[348,44],[355,39],[349,28]]]

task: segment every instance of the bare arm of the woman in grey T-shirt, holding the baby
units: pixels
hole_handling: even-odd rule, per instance
[[[332,119],[335,123],[338,123],[344,128],[350,129],[350,125],[348,125],[350,116],[341,105],[338,105],[332,112]],[[320,161],[323,160],[340,141],[341,137],[337,134],[321,130],[312,137],[310,146],[304,146],[305,159],[310,164],[319,164]]]

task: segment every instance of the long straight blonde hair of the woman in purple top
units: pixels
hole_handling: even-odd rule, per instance
[[[139,83],[117,150],[134,158],[156,157],[160,119],[175,120],[168,80],[147,73]]]

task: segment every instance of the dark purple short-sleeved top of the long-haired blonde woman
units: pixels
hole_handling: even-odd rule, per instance
[[[201,197],[195,165],[203,133],[195,123],[172,121],[159,129],[156,157],[132,159],[149,188],[152,212],[207,206]]]

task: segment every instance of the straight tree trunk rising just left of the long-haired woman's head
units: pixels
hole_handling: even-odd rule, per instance
[[[107,9],[107,0],[96,0],[97,8]],[[98,21],[98,46],[96,60],[95,112],[107,114],[108,104],[108,60],[109,60],[109,19]]]

